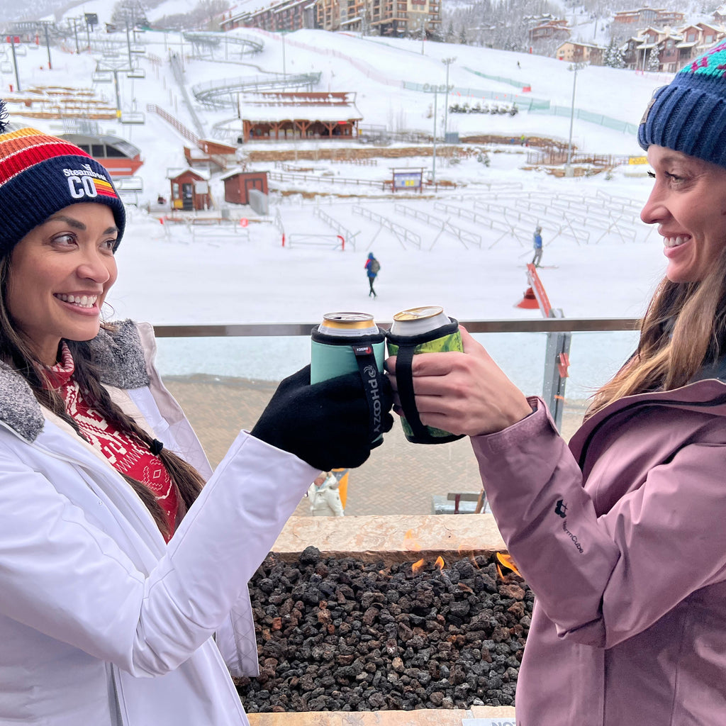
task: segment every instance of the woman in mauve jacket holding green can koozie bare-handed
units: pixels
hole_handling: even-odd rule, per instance
[[[413,364],[536,595],[518,726],[726,723],[726,42],[656,91],[638,141],[665,277],[569,444],[467,333]]]

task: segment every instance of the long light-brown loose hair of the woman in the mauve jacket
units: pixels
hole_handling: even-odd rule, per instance
[[[661,280],[635,354],[600,388],[587,415],[611,401],[685,386],[726,351],[726,246],[701,282]]]

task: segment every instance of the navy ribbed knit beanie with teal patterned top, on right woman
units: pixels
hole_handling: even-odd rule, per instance
[[[656,144],[726,167],[726,41],[653,94],[637,140],[645,150]]]

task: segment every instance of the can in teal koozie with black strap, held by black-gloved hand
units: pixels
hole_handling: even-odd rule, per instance
[[[311,333],[310,383],[358,371],[370,407],[372,432],[380,431],[380,382],[386,338],[368,313],[326,313]],[[375,436],[375,441],[381,438]]]

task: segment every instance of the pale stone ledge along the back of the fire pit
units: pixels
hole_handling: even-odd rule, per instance
[[[401,509],[405,508],[401,502]],[[295,560],[313,545],[325,556],[415,562],[506,550],[491,514],[291,517],[273,552]]]

